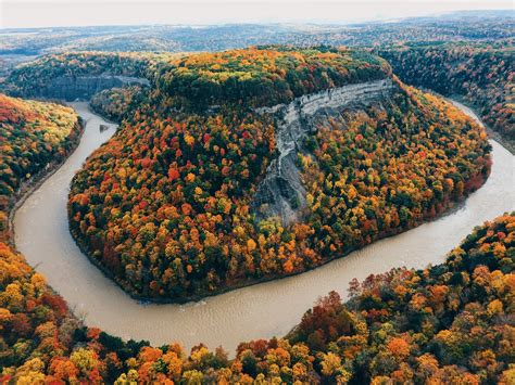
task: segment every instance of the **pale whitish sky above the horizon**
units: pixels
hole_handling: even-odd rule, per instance
[[[0,0],[0,27],[141,24],[356,23],[461,10],[512,10],[512,0]]]

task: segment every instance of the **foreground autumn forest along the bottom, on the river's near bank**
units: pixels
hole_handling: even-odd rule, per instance
[[[84,328],[21,255],[0,243],[2,383],[511,384],[515,214],[478,227],[442,265],[352,281],[282,338],[236,358],[200,344],[151,347]]]

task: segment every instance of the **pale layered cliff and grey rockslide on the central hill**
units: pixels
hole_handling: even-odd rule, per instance
[[[305,137],[316,131],[321,117],[339,114],[359,105],[367,105],[387,98],[394,86],[391,79],[349,85],[296,99],[291,103],[256,110],[261,114],[278,114],[276,131],[278,157],[266,170],[258,187],[252,209],[259,220],[280,217],[284,224],[299,220],[306,206],[303,187],[296,161],[303,149]]]

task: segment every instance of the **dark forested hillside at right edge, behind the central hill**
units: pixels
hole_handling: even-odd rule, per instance
[[[513,41],[406,43],[377,51],[403,81],[461,95],[515,151]]]

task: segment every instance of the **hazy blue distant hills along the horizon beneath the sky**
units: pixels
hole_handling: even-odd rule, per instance
[[[468,11],[359,24],[226,24],[2,29],[1,55],[67,51],[221,51],[254,44],[377,46],[513,38],[511,10]]]

